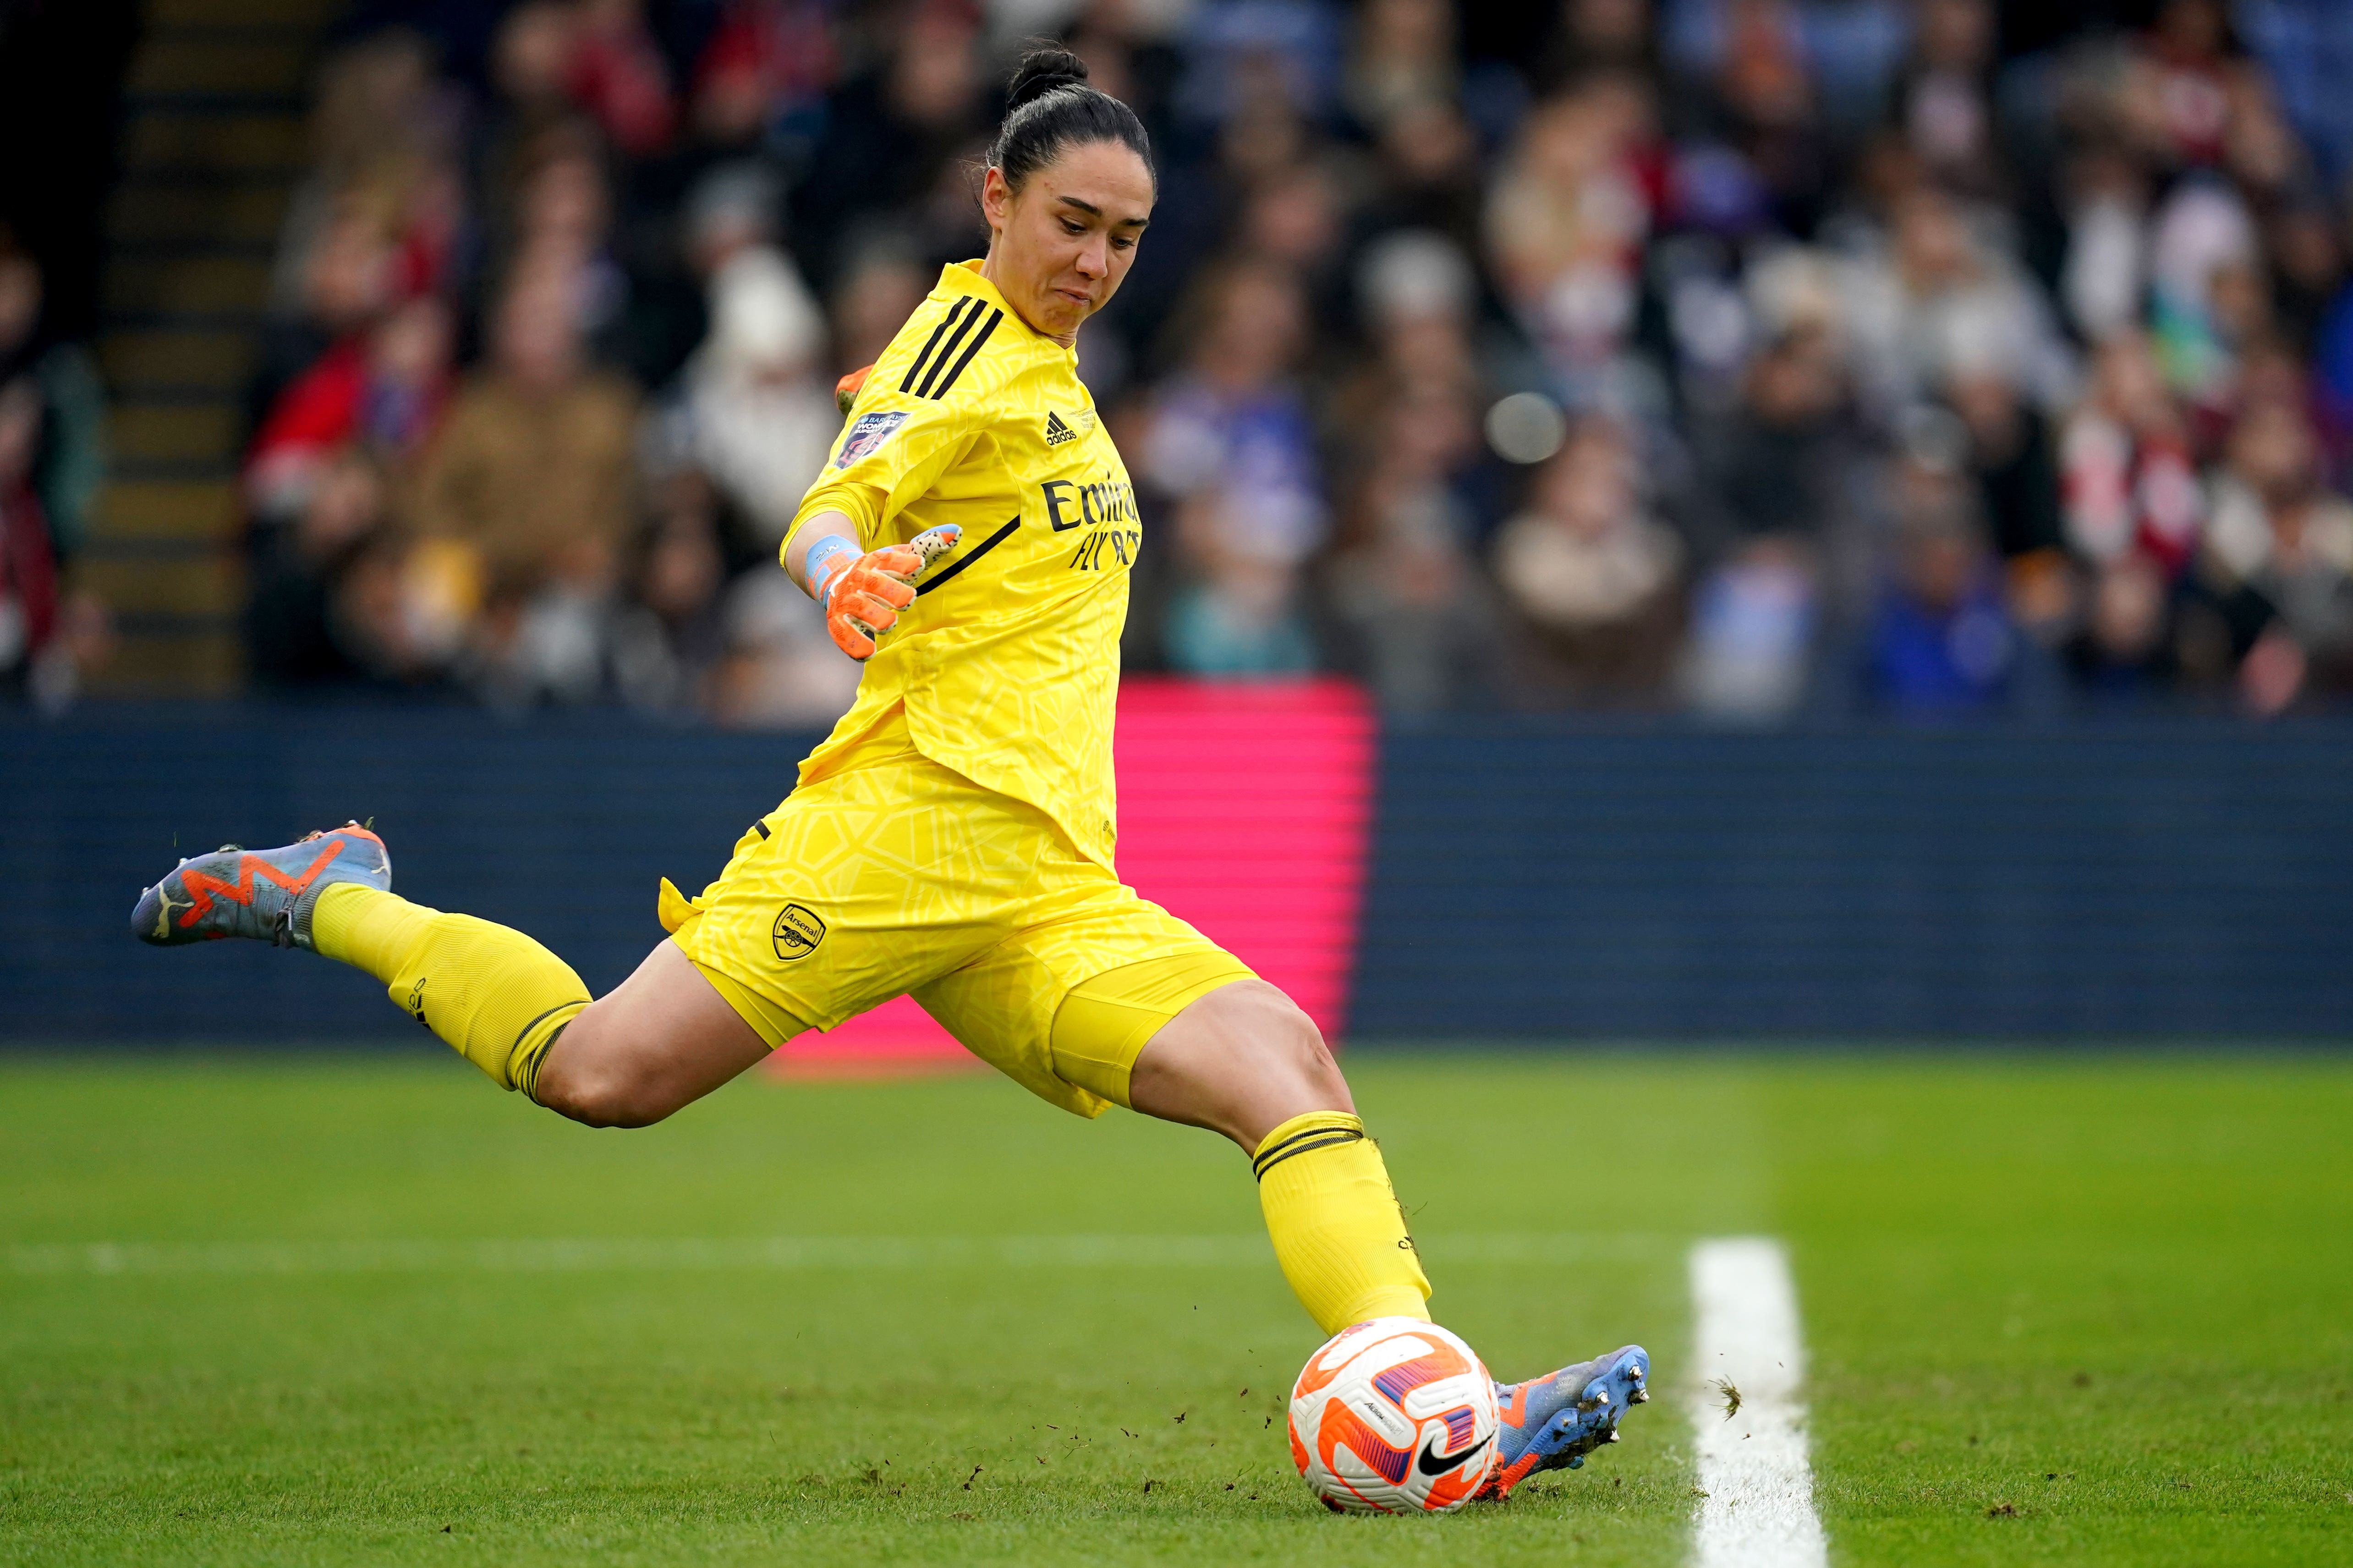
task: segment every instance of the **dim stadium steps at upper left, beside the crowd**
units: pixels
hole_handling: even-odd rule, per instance
[[[75,583],[115,616],[111,696],[245,677],[238,456],[306,96],[341,0],[148,0],[106,207],[99,367],[113,463]]]

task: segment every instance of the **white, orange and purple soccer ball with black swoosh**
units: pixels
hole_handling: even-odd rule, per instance
[[[1292,1385],[1292,1462],[1334,1514],[1452,1514],[1494,1472],[1494,1378],[1438,1324],[1377,1316]]]

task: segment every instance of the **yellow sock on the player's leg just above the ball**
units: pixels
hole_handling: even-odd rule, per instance
[[[1259,1143],[1249,1168],[1275,1262],[1318,1328],[1431,1316],[1431,1281],[1362,1121],[1337,1110],[1292,1117]]]

